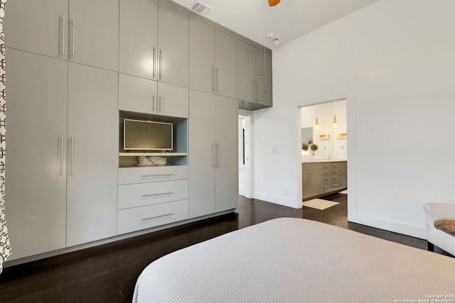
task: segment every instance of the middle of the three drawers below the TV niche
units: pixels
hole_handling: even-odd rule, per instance
[[[119,209],[183,199],[188,199],[188,179],[119,185]]]

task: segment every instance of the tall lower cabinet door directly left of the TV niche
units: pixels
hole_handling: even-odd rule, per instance
[[[117,235],[118,140],[117,73],[70,63],[67,246]]]

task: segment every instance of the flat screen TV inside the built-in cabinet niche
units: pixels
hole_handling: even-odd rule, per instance
[[[173,125],[166,122],[124,119],[124,150],[172,150]]]

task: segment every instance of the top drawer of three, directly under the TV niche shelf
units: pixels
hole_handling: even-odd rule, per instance
[[[119,168],[118,184],[188,179],[188,166],[152,166]]]

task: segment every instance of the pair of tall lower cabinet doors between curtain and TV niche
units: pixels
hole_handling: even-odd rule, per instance
[[[11,48],[6,57],[13,258],[115,236],[117,73]]]

